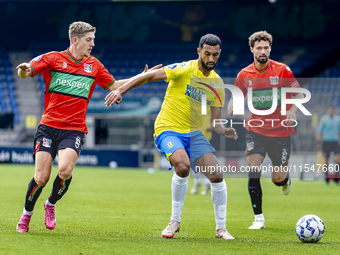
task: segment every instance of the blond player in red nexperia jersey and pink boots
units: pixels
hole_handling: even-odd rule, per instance
[[[58,155],[58,175],[44,204],[45,225],[54,229],[55,204],[71,183],[73,168],[87,133],[88,102],[96,84],[113,91],[129,80],[115,81],[103,64],[90,56],[95,31],[96,28],[88,23],[74,22],[69,27],[71,45],[67,50],[43,54],[17,67],[19,77],[42,74],[46,84],[45,110],[34,137],[35,174],[28,185],[18,232],[28,232],[34,205],[50,179],[52,162]]]

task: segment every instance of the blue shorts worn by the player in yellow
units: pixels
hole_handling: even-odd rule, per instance
[[[213,152],[215,149],[204,137],[201,130],[190,133],[178,133],[174,131],[164,131],[155,138],[157,149],[167,158],[179,148],[185,149],[190,159],[190,166],[195,171],[194,161],[203,155]],[[170,163],[171,164],[171,163]],[[171,165],[172,168],[172,165]],[[169,170],[171,169],[169,168]]]

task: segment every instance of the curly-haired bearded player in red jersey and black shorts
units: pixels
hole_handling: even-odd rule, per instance
[[[278,91],[277,108],[269,115],[249,116],[245,122],[248,130],[246,135],[246,157],[249,169],[248,190],[255,221],[249,229],[264,228],[262,213],[262,189],[260,184],[261,169],[264,157],[268,153],[273,169],[271,177],[275,185],[281,186],[282,193],[287,195],[292,187],[287,168],[290,156],[290,135],[295,131],[291,125],[296,125],[295,105],[287,106],[286,115],[281,115],[281,88],[300,87],[292,71],[283,63],[269,59],[273,38],[266,31],[259,31],[249,37],[250,50],[254,62],[243,68],[235,81],[235,86],[247,95],[252,88],[252,103],[256,110],[270,109],[273,104],[272,88]],[[289,97],[303,98],[301,93]],[[287,95],[288,98],[288,95]],[[290,107],[290,108],[289,108]],[[233,115],[233,99],[228,104],[228,113]]]

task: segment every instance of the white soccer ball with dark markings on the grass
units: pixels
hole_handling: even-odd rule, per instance
[[[298,220],[295,232],[303,243],[316,243],[325,233],[325,224],[318,216],[308,214]]]

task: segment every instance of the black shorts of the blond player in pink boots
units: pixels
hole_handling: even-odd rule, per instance
[[[79,156],[83,138],[85,138],[84,132],[57,129],[40,124],[34,137],[33,159],[35,160],[35,154],[38,151],[47,151],[54,160],[58,151],[65,148],[74,149]]]

